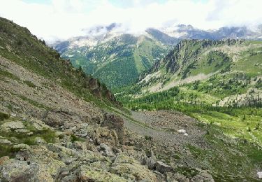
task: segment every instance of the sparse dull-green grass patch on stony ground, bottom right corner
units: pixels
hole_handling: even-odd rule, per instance
[[[231,139],[217,125],[208,127],[208,146],[185,145],[202,169],[208,169],[214,181],[256,181],[252,172],[262,167],[262,148],[245,139]]]

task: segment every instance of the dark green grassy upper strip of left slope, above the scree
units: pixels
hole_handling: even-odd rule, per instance
[[[59,53],[38,41],[26,28],[21,28],[7,20],[1,20],[0,54],[13,62],[30,69],[45,78],[53,80],[75,94],[85,92],[87,99],[92,99],[96,94],[98,101],[111,95],[110,91],[91,77],[85,76],[81,70],[74,69],[70,62],[60,58]],[[94,84],[93,84],[94,83]],[[95,86],[93,86],[95,85]],[[80,90],[76,92],[75,90]],[[109,100],[115,100],[107,98]],[[106,99],[105,99],[106,102]]]

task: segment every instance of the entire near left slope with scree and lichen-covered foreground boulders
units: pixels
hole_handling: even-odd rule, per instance
[[[0,55],[0,181],[213,181],[154,157],[109,90],[3,18]]]

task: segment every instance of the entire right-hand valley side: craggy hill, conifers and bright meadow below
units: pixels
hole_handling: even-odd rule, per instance
[[[134,111],[181,111],[261,145],[261,52],[261,41],[184,40],[115,95]]]

